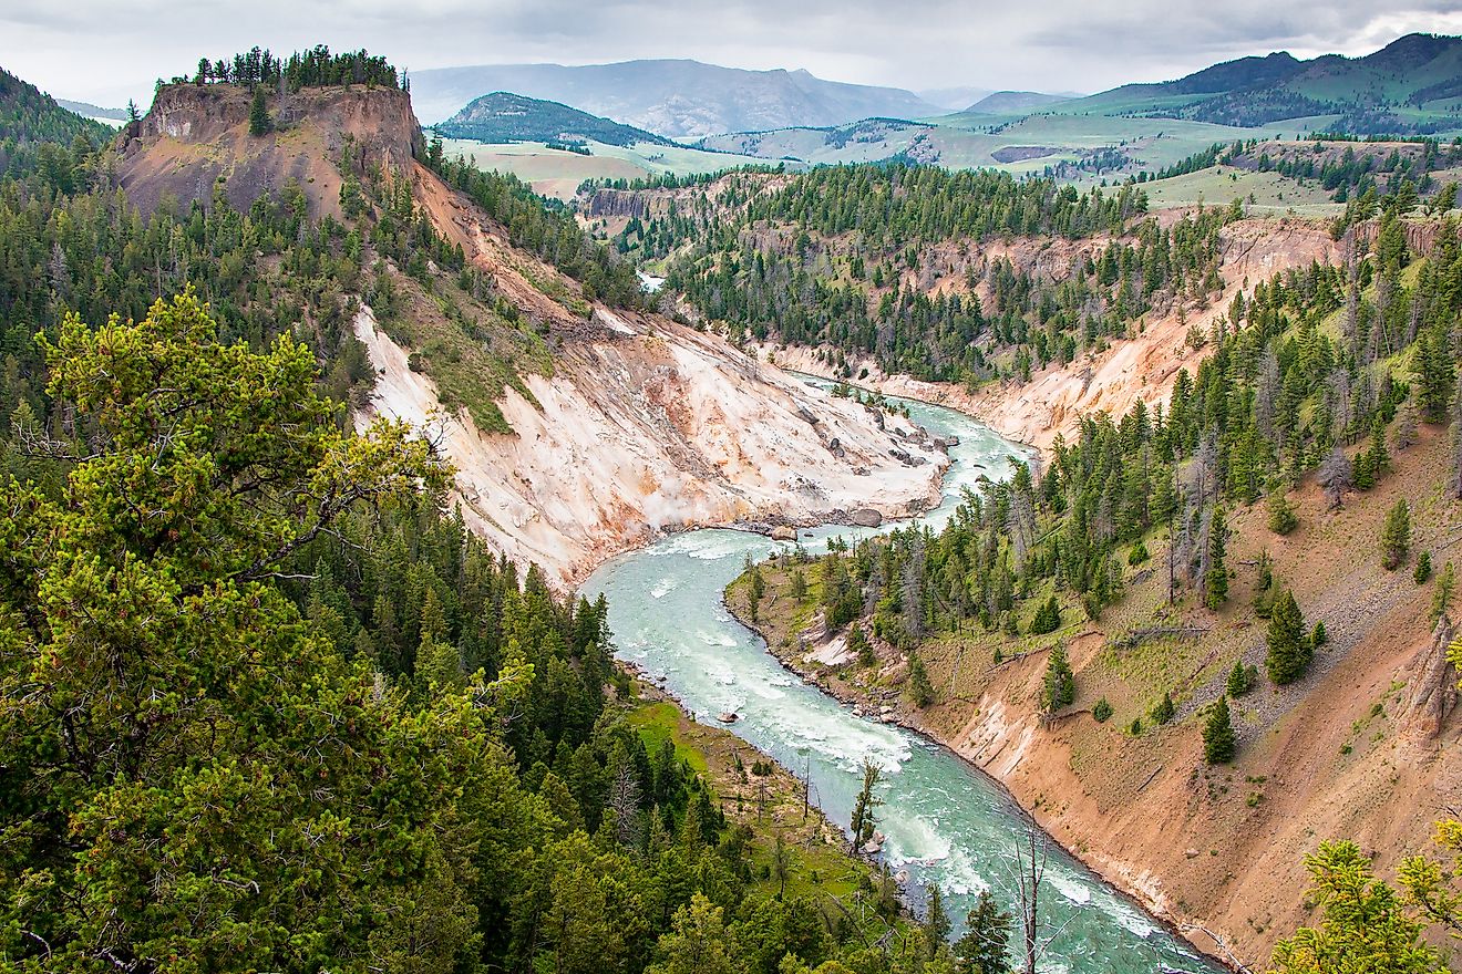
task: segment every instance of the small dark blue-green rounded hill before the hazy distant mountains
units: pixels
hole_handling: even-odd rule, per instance
[[[556,101],[512,92],[482,95],[436,129],[449,139],[478,142],[592,140],[611,146],[674,145],[670,139],[643,129],[621,126]]]

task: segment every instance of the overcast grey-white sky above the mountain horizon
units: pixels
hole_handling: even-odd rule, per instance
[[[1462,0],[0,0],[0,67],[143,107],[158,76],[254,44],[398,67],[692,57],[909,89],[1094,92],[1244,54],[1367,54],[1462,34]]]

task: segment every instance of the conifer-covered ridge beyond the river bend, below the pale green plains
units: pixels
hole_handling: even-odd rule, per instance
[[[827,166],[738,196],[721,193],[716,207],[734,216],[711,232],[705,216],[677,210],[635,221],[621,248],[643,238],[674,253],[668,285],[732,340],[825,348],[849,378],[846,362],[871,356],[890,372],[971,387],[1064,365],[1149,311],[1205,301],[1222,288],[1219,229],[1241,216],[1212,207],[1161,226],[1143,216],[1136,184],[1077,193],[904,165]],[[997,254],[934,288],[940,257],[953,261],[969,241],[1053,237],[1086,244],[1058,275]]]

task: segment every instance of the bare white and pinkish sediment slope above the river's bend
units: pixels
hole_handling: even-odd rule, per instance
[[[354,326],[377,372],[371,412],[433,425],[466,523],[563,587],[670,532],[854,508],[901,517],[937,498],[947,457],[901,416],[671,321],[654,320],[654,333],[614,321],[602,339],[566,345],[551,378],[526,377],[537,404],[506,391],[507,435],[446,410],[368,307]]]

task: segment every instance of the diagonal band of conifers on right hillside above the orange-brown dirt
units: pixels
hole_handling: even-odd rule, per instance
[[[1354,275],[1311,264],[1235,298],[1213,353],[1196,375],[1178,374],[1165,409],[1139,402],[1120,419],[1085,416],[1073,441],[1057,437],[1048,464],[971,495],[939,534],[908,527],[827,555],[829,624],[866,618],[909,650],[966,622],[1048,632],[1060,616],[1039,609],[1053,586],[1099,618],[1159,533],[1173,537],[1173,597],[1221,605],[1225,507],[1269,498],[1284,524],[1285,495],[1303,478],[1341,505],[1386,476],[1420,423],[1462,428],[1459,312],[1456,222],[1417,256],[1389,215]],[[1462,496],[1462,440],[1444,480]]]

